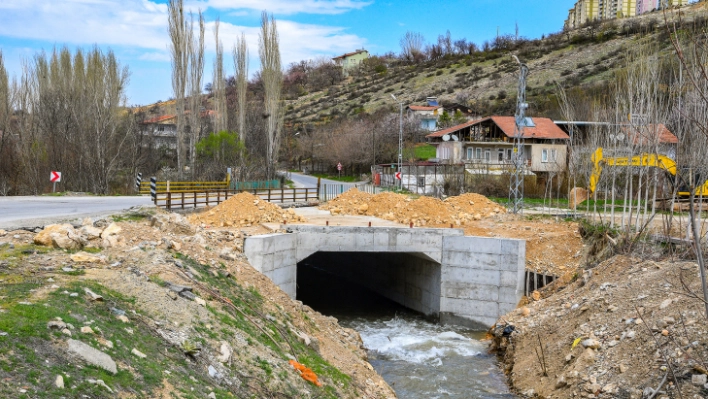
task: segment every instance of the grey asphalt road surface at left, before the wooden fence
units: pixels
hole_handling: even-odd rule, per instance
[[[108,216],[140,205],[152,206],[150,197],[0,197],[0,228],[39,227]]]

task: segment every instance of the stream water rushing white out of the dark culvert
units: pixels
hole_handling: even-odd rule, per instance
[[[369,362],[399,398],[514,397],[480,341],[484,333],[431,323],[324,270],[298,269],[298,299],[358,331]]]

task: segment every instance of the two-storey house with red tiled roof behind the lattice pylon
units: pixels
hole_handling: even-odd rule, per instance
[[[464,163],[475,173],[502,173],[513,167],[516,120],[490,116],[427,135],[441,163]],[[527,171],[561,172],[567,166],[570,137],[549,118],[525,118],[522,153]]]

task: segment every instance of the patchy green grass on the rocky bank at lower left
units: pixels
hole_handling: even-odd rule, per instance
[[[189,392],[194,389],[198,397],[206,397],[210,385],[203,373],[190,370],[189,361],[178,348],[166,345],[147,324],[140,322],[139,316],[128,313],[132,320],[125,324],[118,320],[110,308],[116,307],[129,311],[134,308],[134,300],[126,298],[101,285],[92,282],[74,282],[65,287],[79,296],[70,297],[57,290],[42,301],[32,300],[32,305],[20,304],[30,298],[31,290],[38,287],[34,283],[7,284],[0,287],[0,307],[5,311],[0,317],[0,330],[8,333],[0,337],[0,374],[10,382],[0,385],[0,397],[109,397],[105,388],[90,384],[89,379],[101,379],[114,391],[139,393],[139,397],[150,397],[151,393],[162,386],[162,380],[168,378],[178,388]],[[91,302],[83,295],[84,287],[102,295],[105,302]],[[71,315],[82,315],[96,334],[81,334],[78,330],[83,324]],[[115,375],[80,361],[69,359],[62,342],[67,337],[59,331],[49,330],[47,322],[56,317],[75,326],[72,338],[80,340],[107,353],[114,361],[130,367],[119,367]],[[132,329],[132,334],[126,330]],[[99,343],[98,338],[111,341],[114,347],[108,348]],[[131,354],[133,348],[148,355],[145,359]],[[170,370],[171,374],[164,374]],[[58,389],[54,385],[57,375],[64,377],[67,388]],[[194,377],[194,382],[190,377]],[[27,393],[22,396],[18,386],[25,387]],[[69,388],[72,387],[72,388]],[[75,387],[75,388],[73,388]]]

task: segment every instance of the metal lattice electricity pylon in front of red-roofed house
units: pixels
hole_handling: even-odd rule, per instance
[[[526,64],[519,61],[519,58],[513,55],[516,62],[519,63],[519,94],[516,97],[516,115],[514,128],[514,150],[511,155],[511,160],[514,165],[514,171],[509,182],[509,208],[513,213],[523,212],[522,205],[524,203],[524,169],[526,167],[526,159],[524,157],[524,127],[529,125],[529,121],[525,116],[526,108],[529,105],[526,103],[526,76],[529,74],[529,68]],[[532,125],[531,125],[532,126]]]

